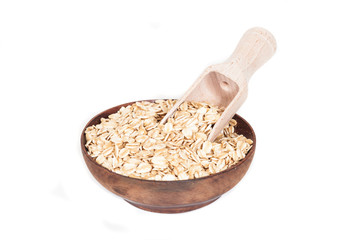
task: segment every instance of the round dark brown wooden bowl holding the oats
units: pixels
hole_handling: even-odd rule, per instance
[[[155,100],[144,101],[154,102]],[[109,191],[143,210],[180,213],[214,202],[233,188],[245,175],[254,157],[256,138],[250,124],[237,114],[234,116],[237,121],[235,132],[253,140],[253,147],[243,160],[222,172],[190,180],[155,181],[122,176],[99,165],[85,148],[85,129],[100,123],[101,118],[108,117],[121,107],[133,103],[135,102],[125,103],[99,113],[86,124],[81,133],[81,150],[86,165],[95,179]]]

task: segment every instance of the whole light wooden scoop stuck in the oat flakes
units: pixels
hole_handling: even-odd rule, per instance
[[[161,120],[165,124],[184,101],[207,102],[225,107],[208,140],[214,141],[244,103],[248,82],[276,50],[273,35],[263,28],[251,28],[224,63],[209,66]]]

